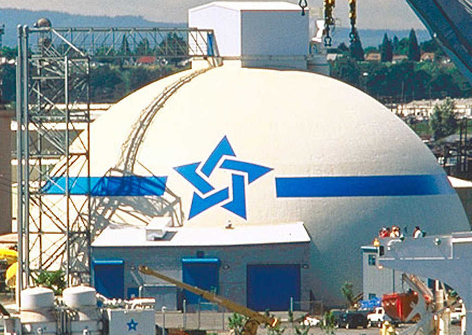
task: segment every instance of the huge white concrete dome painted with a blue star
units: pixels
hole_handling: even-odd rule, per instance
[[[91,124],[90,175],[104,176],[119,166],[122,144],[141,111],[165,87],[193,71],[149,84]],[[218,162],[210,160],[204,168],[221,141],[229,143],[233,154],[228,154],[227,145],[222,151],[226,155],[213,155]],[[226,168],[225,161],[231,163]],[[253,171],[251,177],[244,172],[249,165],[237,162],[267,169]],[[190,179],[198,179],[200,188],[176,169],[192,163],[186,171],[196,168],[198,177]],[[167,177],[166,187],[181,199],[186,226],[223,226],[231,220],[236,229],[239,224],[261,223],[270,229],[272,224],[304,222],[312,241],[309,285],[315,299],[328,303],[342,300],[340,286],[347,280],[360,291],[360,246],[371,243],[382,226],[408,226],[412,232],[420,225],[428,234],[470,229],[444,171],[407,125],[360,90],[308,72],[240,68],[227,62],[200,74],[178,88],[153,117],[139,143],[133,172]],[[236,177],[233,185],[233,175],[243,177]],[[369,180],[354,178],[364,176],[373,177],[374,184],[380,180],[381,190],[376,193],[377,186]],[[335,184],[340,193],[330,194],[323,187],[321,193],[300,191],[296,183],[277,189],[276,178],[292,177],[328,177],[327,184],[322,180],[316,185]],[[346,186],[349,180],[331,177],[354,178],[354,189],[367,193],[352,191]],[[423,182],[430,186],[415,192],[414,183]],[[208,191],[208,185],[213,190]],[[428,191],[431,187],[436,191]],[[216,195],[225,188],[227,194]],[[400,190],[389,193],[385,188]],[[211,195],[212,201],[197,203],[191,213],[194,197]],[[150,221],[164,212],[158,206],[149,208],[150,202],[142,199],[116,197],[134,214],[117,213],[109,222],[142,224],[136,213],[142,211],[143,221]],[[274,263],[283,260],[282,254],[274,254]]]

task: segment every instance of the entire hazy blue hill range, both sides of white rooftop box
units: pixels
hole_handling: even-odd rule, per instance
[[[33,11],[27,9],[1,8],[0,25],[5,24],[5,34],[3,35],[3,45],[16,46],[18,25],[32,26],[39,18],[48,18],[53,27],[186,27],[186,23],[165,23],[152,22],[141,16],[91,16],[75,15],[54,11]],[[349,46],[349,28],[336,28],[333,33],[333,46],[338,46],[344,42]],[[408,37],[409,29],[406,30],[385,30],[385,29],[359,29],[362,47],[377,47],[382,43],[383,34],[388,34],[389,38],[397,36],[399,39]],[[427,30],[416,30],[418,42],[431,39]]]

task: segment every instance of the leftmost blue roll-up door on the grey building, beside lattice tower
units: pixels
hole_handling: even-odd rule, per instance
[[[107,298],[124,299],[124,261],[122,259],[94,259],[93,282],[98,293]]]

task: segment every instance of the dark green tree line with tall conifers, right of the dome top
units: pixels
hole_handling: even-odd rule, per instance
[[[350,45],[339,45],[341,54],[332,62],[331,76],[354,85],[380,101],[408,102],[418,99],[470,97],[472,88],[441,47],[429,40],[418,45],[414,30],[408,38],[389,39],[384,35],[378,48],[362,49],[360,37]],[[380,62],[364,61],[364,55],[377,52]],[[433,53],[434,59],[419,61],[422,53]],[[393,55],[406,60],[393,62]]]

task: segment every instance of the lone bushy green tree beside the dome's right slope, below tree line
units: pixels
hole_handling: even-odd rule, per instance
[[[455,104],[451,98],[446,98],[441,104],[434,106],[429,124],[435,140],[454,134],[459,126],[454,113]]]

